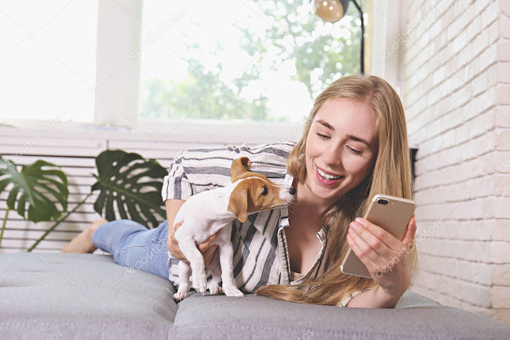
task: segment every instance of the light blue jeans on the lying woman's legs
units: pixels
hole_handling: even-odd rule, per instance
[[[115,263],[127,267],[131,276],[143,270],[168,279],[168,222],[147,229],[131,220],[105,223],[92,234],[92,243],[113,255]]]

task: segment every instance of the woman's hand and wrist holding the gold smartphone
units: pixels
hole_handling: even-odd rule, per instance
[[[363,218],[356,221],[350,224],[347,242],[379,284],[381,296],[396,304],[411,284],[409,255],[414,250],[415,216],[401,240]]]

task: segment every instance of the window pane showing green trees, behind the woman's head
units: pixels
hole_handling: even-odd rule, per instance
[[[144,2],[139,119],[294,123],[360,70],[359,12],[336,23],[309,1]],[[130,57],[130,58],[131,58]]]

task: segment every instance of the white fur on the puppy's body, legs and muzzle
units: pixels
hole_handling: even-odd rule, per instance
[[[233,274],[234,251],[230,237],[232,222],[236,216],[229,212],[227,207],[233,189],[241,181],[252,178],[264,180],[256,176],[247,177],[237,180],[230,186],[195,194],[188,198],[177,212],[174,225],[181,221],[184,223],[175,231],[175,240],[189,262],[183,260],[179,262],[179,289],[173,296],[175,300],[180,301],[188,296],[190,274],[193,288],[202,295],[205,295],[206,290],[209,289],[212,295],[224,292],[226,296],[244,296],[237,289]],[[280,187],[279,198],[285,199],[286,204],[290,203],[294,197],[289,193],[291,187]],[[250,214],[254,212],[247,213],[247,215]],[[218,236],[211,245],[218,245],[219,256],[215,256],[208,266],[213,274],[208,284],[203,256],[196,245],[206,241],[218,230]]]

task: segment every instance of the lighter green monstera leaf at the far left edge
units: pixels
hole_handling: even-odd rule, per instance
[[[9,210],[17,211],[28,221],[57,220],[62,213],[50,198],[59,201],[62,211],[66,211],[69,195],[67,177],[58,169],[55,164],[38,160],[31,165],[23,165],[18,172],[14,163],[0,156],[0,192],[14,184],[7,197]]]

